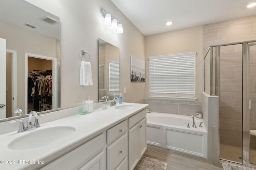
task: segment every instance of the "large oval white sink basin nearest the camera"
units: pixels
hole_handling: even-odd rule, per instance
[[[13,150],[25,150],[43,147],[69,137],[76,131],[74,127],[57,126],[28,132],[9,143],[8,148]]]

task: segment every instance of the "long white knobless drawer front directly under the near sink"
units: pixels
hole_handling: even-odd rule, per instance
[[[88,160],[96,156],[106,146],[106,133],[103,133],[94,139],[86,142],[80,147],[64,154],[60,158],[50,162],[41,170],[56,170],[56,169],[78,169]]]

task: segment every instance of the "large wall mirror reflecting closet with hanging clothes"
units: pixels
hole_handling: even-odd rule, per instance
[[[19,118],[32,110],[60,108],[60,18],[25,0],[0,1],[0,38],[6,39],[5,108],[0,121]],[[2,82],[4,81],[4,82]],[[0,86],[2,87],[2,86]],[[3,102],[0,101],[0,104]]]

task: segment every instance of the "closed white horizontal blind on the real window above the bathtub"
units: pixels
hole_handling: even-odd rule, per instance
[[[149,57],[150,95],[195,96],[195,56],[183,53]]]

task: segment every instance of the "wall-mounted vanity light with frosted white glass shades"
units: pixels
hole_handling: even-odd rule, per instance
[[[108,11],[101,11],[101,15],[104,18],[104,23],[106,25],[111,25],[111,29],[117,30],[117,33],[123,33],[123,25],[120,23],[114,16],[111,17],[111,14]],[[119,22],[119,23],[118,23]]]

